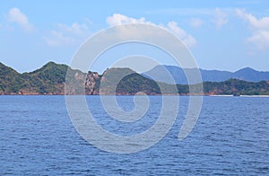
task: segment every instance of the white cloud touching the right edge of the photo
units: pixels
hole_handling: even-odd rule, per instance
[[[257,19],[256,16],[237,9],[237,14],[249,25],[252,36],[247,41],[254,44],[260,50],[269,49],[269,17]]]

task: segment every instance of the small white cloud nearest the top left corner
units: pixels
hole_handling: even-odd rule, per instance
[[[34,29],[27,16],[19,8],[10,9],[6,18],[8,22],[17,23],[24,31],[33,31]]]

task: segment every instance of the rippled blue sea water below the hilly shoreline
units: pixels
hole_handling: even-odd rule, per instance
[[[87,102],[103,128],[132,135],[158,118],[161,97],[149,99],[146,116],[131,127],[109,119],[99,96],[89,96]],[[179,100],[178,118],[157,145],[112,154],[76,132],[64,96],[0,96],[0,175],[269,174],[269,98],[204,97],[195,128],[182,141],[178,132],[188,97]],[[134,108],[132,96],[118,96],[117,101],[124,110]]]

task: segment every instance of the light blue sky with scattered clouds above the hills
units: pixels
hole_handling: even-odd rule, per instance
[[[0,1],[0,62],[20,73],[48,61],[69,65],[83,41],[130,22],[170,31],[187,45],[201,68],[237,71],[248,66],[269,71],[268,0]],[[129,53],[119,47],[104,55],[92,71],[102,73],[125,57],[122,53],[155,52],[130,47],[134,49]],[[173,65],[159,51],[149,57],[162,57],[162,64]]]

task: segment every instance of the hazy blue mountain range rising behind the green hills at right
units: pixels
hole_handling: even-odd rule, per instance
[[[223,82],[228,79],[239,79],[249,82],[260,82],[269,80],[269,72],[259,72],[252,68],[243,68],[237,72],[199,69],[203,82]],[[167,84],[188,84],[185,72],[195,75],[193,68],[181,68],[178,66],[155,66],[152,70],[143,73],[145,77]],[[170,76],[168,75],[170,74]],[[174,79],[174,80],[172,80]],[[197,81],[198,83],[199,81]]]

